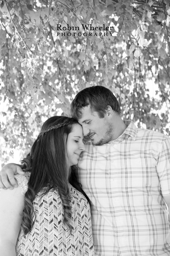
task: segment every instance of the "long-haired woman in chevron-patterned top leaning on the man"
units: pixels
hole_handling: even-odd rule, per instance
[[[25,175],[15,176],[18,188],[0,192],[0,255],[94,255],[88,198],[71,167],[82,140],[73,118],[43,124],[22,161]]]

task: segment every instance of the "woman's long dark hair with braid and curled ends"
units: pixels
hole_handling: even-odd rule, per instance
[[[50,117],[42,125],[41,132],[33,143],[29,154],[22,160],[22,169],[31,172],[28,189],[25,193],[25,206],[21,223],[24,234],[31,230],[35,220],[33,218],[33,216],[35,217],[33,208],[35,196],[39,192],[44,195],[51,188],[58,189],[63,203],[63,221],[70,228],[70,232],[72,230],[69,222],[72,213],[69,203],[69,181],[71,185],[85,195],[73,168],[69,166],[66,150],[68,135],[75,124],[78,122],[73,118]]]

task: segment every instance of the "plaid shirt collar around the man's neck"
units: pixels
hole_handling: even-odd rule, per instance
[[[133,140],[136,139],[136,136],[137,136],[137,128],[135,126],[135,124],[133,123],[132,120],[125,120],[124,123],[126,125],[128,125],[128,127],[126,128],[126,130],[116,139],[116,140],[122,140],[122,138],[127,138],[127,137],[132,137]],[[125,136],[125,134],[127,134],[128,136]],[[87,136],[87,137],[84,137],[84,143],[93,143],[92,140]],[[116,141],[115,140],[115,141]]]

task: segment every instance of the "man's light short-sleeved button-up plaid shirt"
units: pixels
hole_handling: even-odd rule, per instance
[[[111,144],[85,139],[78,162],[90,198],[95,255],[170,255],[163,196],[170,196],[170,138],[131,121]]]

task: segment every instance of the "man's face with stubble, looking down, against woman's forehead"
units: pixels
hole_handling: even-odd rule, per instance
[[[114,127],[108,115],[100,118],[97,112],[92,112],[89,105],[82,108],[78,123],[83,127],[83,134],[88,135],[95,145],[103,145],[113,140]]]

